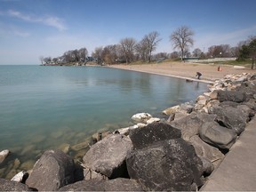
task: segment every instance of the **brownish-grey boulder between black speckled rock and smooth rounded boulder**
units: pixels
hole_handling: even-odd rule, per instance
[[[192,112],[188,116],[172,121],[170,124],[181,130],[183,140],[189,141],[192,136],[199,134],[199,128],[204,122],[213,121],[215,118],[214,115]]]

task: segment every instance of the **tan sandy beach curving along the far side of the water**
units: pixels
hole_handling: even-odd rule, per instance
[[[220,66],[221,70],[218,71]],[[198,81],[196,79],[196,72],[203,74],[201,82],[212,83],[213,81],[223,78],[228,74],[241,74],[241,73],[255,73],[255,69],[251,68],[234,68],[230,65],[216,65],[216,64],[198,64],[198,63],[185,63],[185,62],[162,62],[152,64],[138,64],[138,65],[111,65],[109,68],[120,68],[126,70],[134,70],[146,72],[151,74],[173,76],[185,78],[189,80]]]

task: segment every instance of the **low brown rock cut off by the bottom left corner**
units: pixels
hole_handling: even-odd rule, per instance
[[[13,180],[0,178],[0,191],[33,191],[27,185]]]

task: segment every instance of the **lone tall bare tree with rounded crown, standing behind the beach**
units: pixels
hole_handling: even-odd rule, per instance
[[[188,47],[194,44],[192,36],[194,36],[194,32],[187,26],[181,26],[170,36],[173,48],[179,49],[181,52],[181,60],[184,58],[184,52],[188,51]]]

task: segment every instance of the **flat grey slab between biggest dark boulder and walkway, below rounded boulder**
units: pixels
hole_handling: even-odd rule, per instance
[[[204,159],[209,160],[211,163],[214,163],[215,166],[224,158],[224,155],[220,152],[218,148],[214,148],[211,145],[205,143],[199,138],[198,135],[194,135],[189,140],[193,147],[196,150],[196,155],[199,157],[204,157]]]

